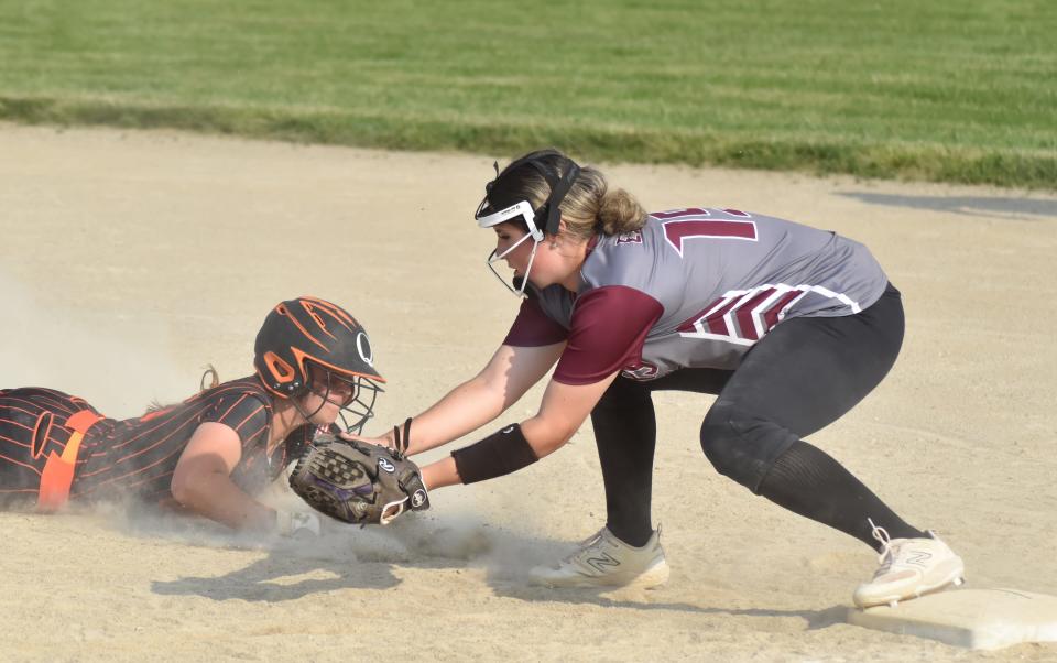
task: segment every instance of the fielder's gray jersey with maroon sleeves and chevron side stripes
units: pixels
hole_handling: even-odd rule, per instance
[[[783,320],[859,313],[887,284],[863,244],[835,232],[697,207],[599,236],[580,274],[576,294],[530,286],[504,341],[566,340],[554,379],[569,384],[615,370],[653,380],[680,368],[734,369]]]

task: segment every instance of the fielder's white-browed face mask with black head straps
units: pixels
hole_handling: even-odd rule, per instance
[[[528,274],[532,272],[532,263],[536,259],[536,249],[540,247],[540,242],[543,241],[544,233],[551,236],[558,233],[558,228],[562,222],[562,200],[565,199],[566,194],[573,188],[573,184],[576,183],[576,177],[580,173],[580,166],[578,166],[576,162],[563,156],[569,165],[565,175],[559,176],[557,171],[544,161],[544,157],[553,155],[560,156],[560,153],[554,150],[533,152],[506,166],[502,173],[499,172],[499,164],[495,164],[495,180],[484,185],[484,198],[481,200],[481,204],[478,205],[477,213],[473,215],[473,218],[477,219],[477,225],[481,228],[493,228],[500,224],[520,218],[528,229],[528,232],[524,237],[502,253],[497,253],[497,250],[492,249],[492,252],[489,253],[486,260],[488,269],[499,279],[500,283],[505,285],[506,289],[517,297],[522,297],[525,294],[525,287],[528,284]],[[551,194],[547,196],[547,199],[544,200],[543,205],[537,209],[533,209],[528,200],[521,199],[513,202],[513,204],[503,207],[499,211],[493,211],[499,204],[499,200],[493,198],[501,197],[500,192],[509,188],[511,184],[516,184],[517,178],[520,178],[516,172],[523,170],[522,166],[534,169],[546,180],[551,186]],[[541,222],[544,224],[542,228]],[[528,265],[525,268],[525,273],[514,279],[514,284],[511,285],[495,271],[495,263],[505,259],[514,249],[530,239],[532,240],[532,253],[528,257]]]

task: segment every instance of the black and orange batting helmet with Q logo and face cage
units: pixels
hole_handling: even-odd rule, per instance
[[[296,399],[312,387],[309,365],[326,374],[324,398],[334,380],[351,387],[341,419],[359,431],[373,415],[374,399],[385,379],[374,369],[367,330],[347,311],[316,297],[277,304],[264,318],[253,346],[253,366],[264,387],[281,399]],[[369,392],[369,393],[367,393]],[[370,398],[370,402],[363,400]],[[295,406],[297,401],[294,401]],[[357,409],[356,405],[359,405]],[[320,405],[322,407],[322,405]],[[358,419],[350,425],[346,413]],[[308,419],[315,413],[304,413]]]

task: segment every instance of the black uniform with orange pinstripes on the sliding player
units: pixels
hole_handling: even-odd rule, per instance
[[[0,391],[0,498],[35,496],[48,454],[61,454],[69,439],[70,431],[63,425],[66,417],[81,410],[95,412],[84,399],[51,389]],[[81,443],[70,499],[132,494],[167,501],[176,463],[206,422],[225,424],[238,434],[242,456],[231,479],[252,494],[276,478],[315,433],[315,426],[301,426],[269,455],[271,414],[272,396],[251,376],[140,417],[102,419]],[[42,416],[53,417],[46,431],[40,425]]]

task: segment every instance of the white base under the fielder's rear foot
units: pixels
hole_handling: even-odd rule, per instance
[[[1057,597],[1016,589],[949,589],[895,608],[851,608],[848,623],[970,649],[1057,642]]]

